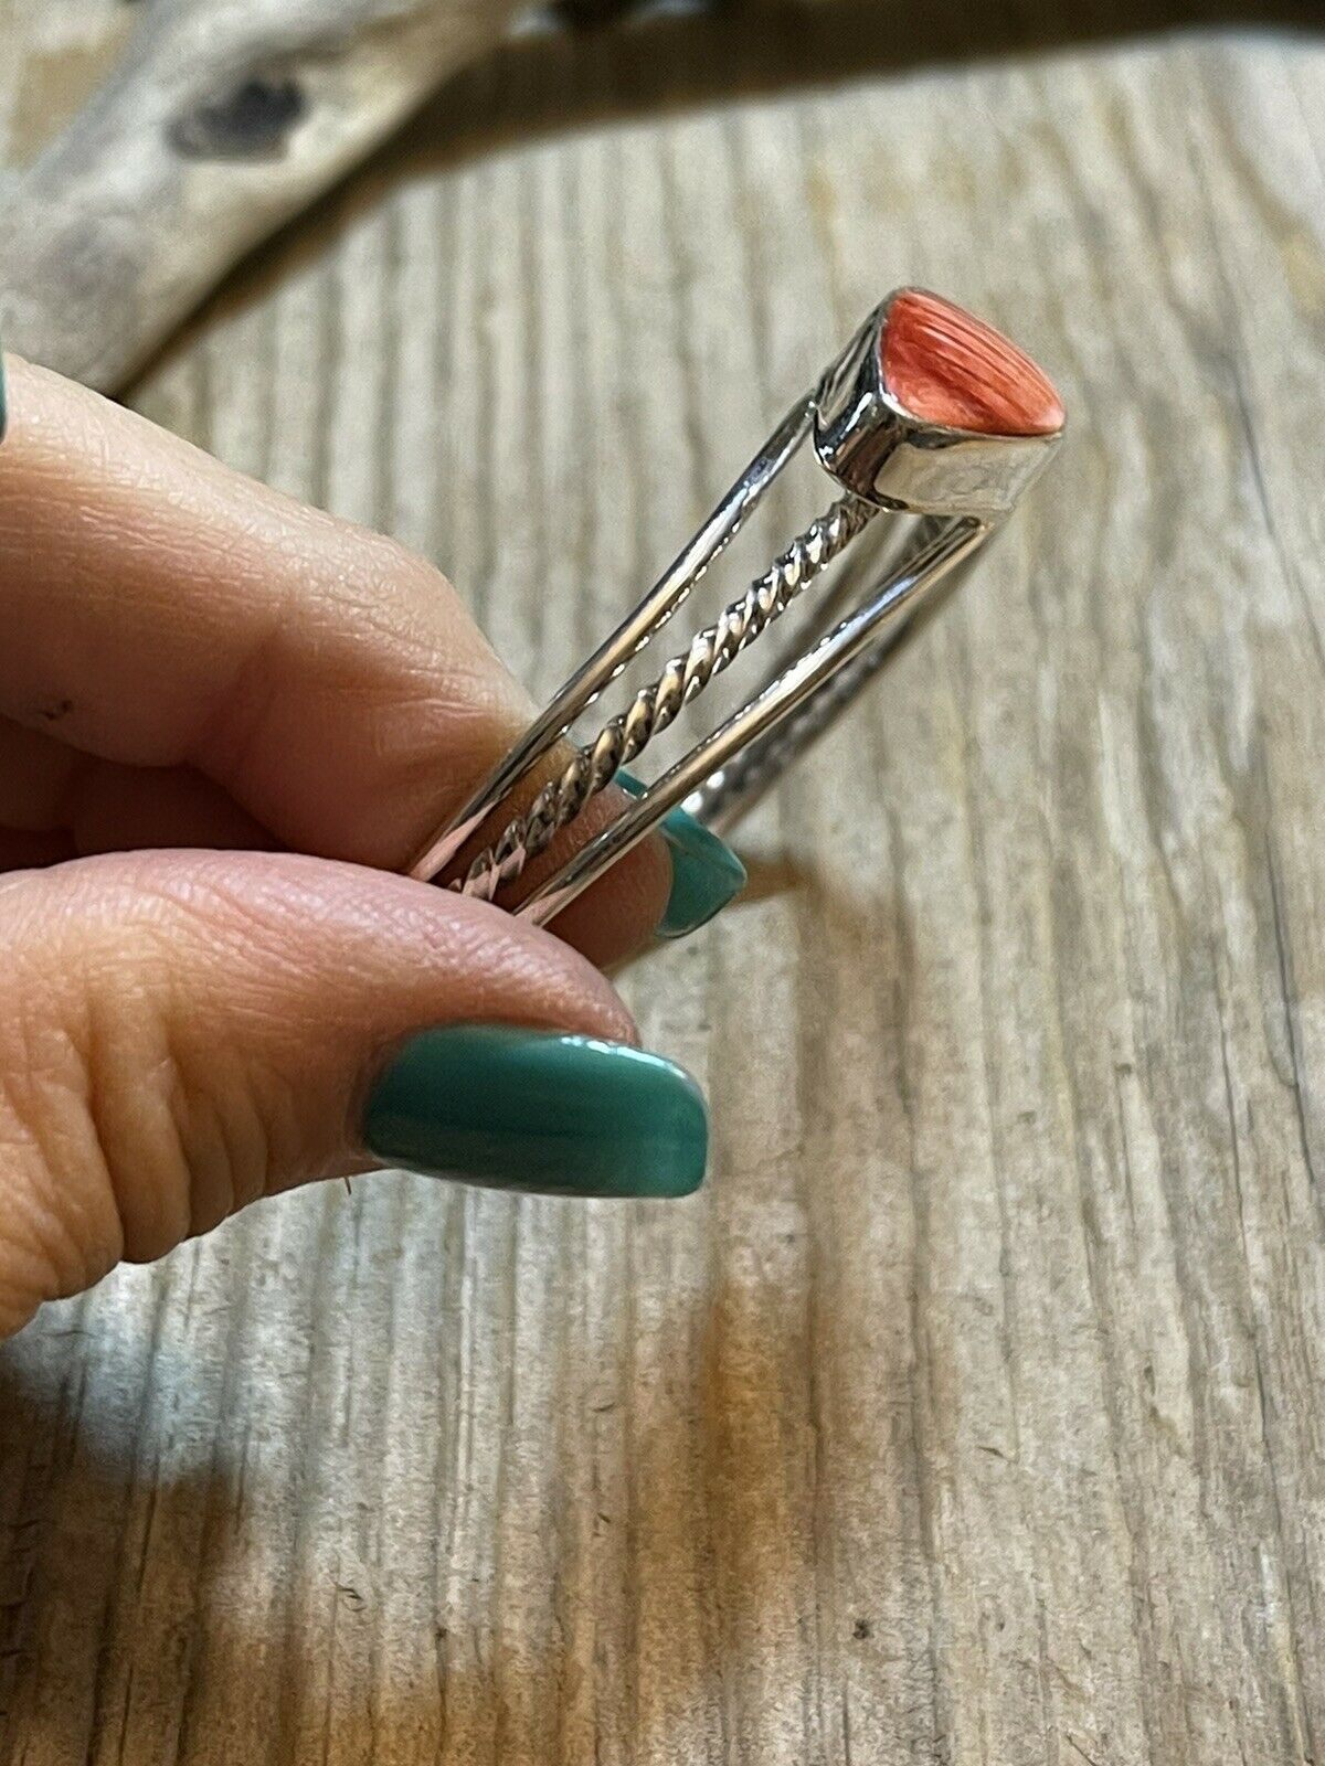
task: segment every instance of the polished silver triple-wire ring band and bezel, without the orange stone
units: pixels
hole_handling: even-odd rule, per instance
[[[410,874],[424,881],[454,871],[463,849],[567,736],[572,722],[617,680],[689,599],[791,459],[813,452],[836,480],[827,512],[730,602],[712,625],[671,657],[629,706],[597,735],[574,745],[565,765],[532,804],[496,823],[495,837],[449,887],[500,899],[680,712],[737,657],[749,650],[853,542],[876,530],[880,516],[922,516],[905,523],[901,556],[874,567],[853,606],[827,632],[772,673],[746,705],[700,740],[670,772],[516,908],[539,924],[643,841],[678,804],[703,821],[730,825],[735,812],[795,758],[873,678],[913,625],[931,592],[973,558],[1034,484],[1062,431],[1035,436],[975,434],[922,422],[883,385],[882,339],[889,297],[825,371],[818,389],[791,406],[671,567],[599,650],[565,682],[546,712],[479,786],[458,814],[424,846]],[[844,494],[843,494],[844,493]],[[894,553],[897,547],[894,547]],[[829,599],[820,608],[827,615]]]

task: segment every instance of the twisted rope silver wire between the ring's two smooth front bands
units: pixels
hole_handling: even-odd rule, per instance
[[[876,510],[855,496],[839,498],[832,509],[799,533],[786,551],[756,577],[740,600],[733,600],[712,625],[696,634],[684,655],[673,657],[657,680],[641,687],[625,712],[613,717],[597,736],[578,749],[564,772],[549,781],[523,816],[486,848],[463,879],[450,887],[465,895],[491,901],[505,883],[514,883],[530,858],[551,846],[597,793],[611,784],[696,699],[708,682],[731,662],[816,576],[867,526]]]

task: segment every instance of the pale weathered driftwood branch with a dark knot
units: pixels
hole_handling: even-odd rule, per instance
[[[106,83],[0,192],[11,348],[102,389],[493,48],[519,5],[143,0],[138,11]]]

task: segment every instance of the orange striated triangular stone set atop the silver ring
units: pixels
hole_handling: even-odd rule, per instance
[[[1049,436],[1064,426],[1062,399],[1028,355],[924,288],[892,300],[880,360],[883,385],[922,422],[986,436]]]

